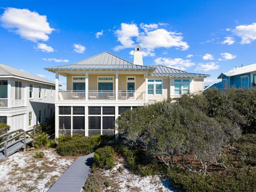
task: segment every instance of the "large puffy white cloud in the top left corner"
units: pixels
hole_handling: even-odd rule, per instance
[[[53,28],[47,22],[46,15],[39,15],[28,9],[8,7],[0,17],[2,26],[22,38],[32,42],[47,41]]]

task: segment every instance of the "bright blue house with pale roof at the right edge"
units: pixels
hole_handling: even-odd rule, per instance
[[[228,72],[221,73],[218,79],[222,80],[222,90],[233,86],[242,89],[256,89],[256,63],[235,67]]]

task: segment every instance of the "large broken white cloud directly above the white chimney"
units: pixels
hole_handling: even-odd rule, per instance
[[[181,33],[159,28],[164,26],[165,23],[141,23],[139,29],[134,23],[122,23],[121,29],[115,31],[117,40],[121,45],[114,47],[114,50],[119,51],[121,49],[131,48],[135,46],[135,43],[140,44],[143,49],[150,52],[154,52],[159,47],[177,47],[181,50],[187,50],[189,48],[187,42],[183,41]]]

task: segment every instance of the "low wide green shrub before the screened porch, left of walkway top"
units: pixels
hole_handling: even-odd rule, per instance
[[[89,137],[74,135],[73,137],[61,137],[56,149],[59,155],[79,156],[92,153],[97,146],[98,143]]]

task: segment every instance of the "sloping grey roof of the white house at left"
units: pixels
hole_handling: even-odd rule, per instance
[[[1,63],[0,63],[0,76],[14,76],[14,77],[16,76],[16,77],[26,78],[26,79],[32,80],[32,81],[38,81],[41,83],[55,85],[55,83],[53,83],[47,79],[38,77],[36,75],[31,75],[29,73],[26,73],[25,71],[22,71],[22,70],[19,70],[19,69],[1,64]]]

